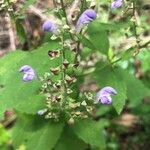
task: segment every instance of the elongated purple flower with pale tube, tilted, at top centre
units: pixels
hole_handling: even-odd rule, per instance
[[[97,17],[96,12],[93,9],[87,9],[85,10],[81,16],[79,17],[76,25],[76,31],[80,32],[81,28],[95,20]]]

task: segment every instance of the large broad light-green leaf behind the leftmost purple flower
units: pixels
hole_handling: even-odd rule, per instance
[[[15,108],[25,113],[36,113],[44,106],[44,97],[40,94],[41,82],[22,81],[23,74],[19,69],[23,65],[33,67],[38,75],[49,72],[50,67],[58,66],[60,58],[49,59],[48,51],[59,48],[59,44],[51,42],[32,51],[15,51],[0,59],[0,117],[5,110]],[[15,62],[15,63],[14,63]]]

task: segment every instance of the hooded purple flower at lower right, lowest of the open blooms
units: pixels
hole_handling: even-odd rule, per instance
[[[102,104],[111,104],[112,98],[111,95],[116,95],[117,92],[114,88],[110,86],[106,86],[102,88],[99,92],[96,94],[96,100],[100,101]]]

